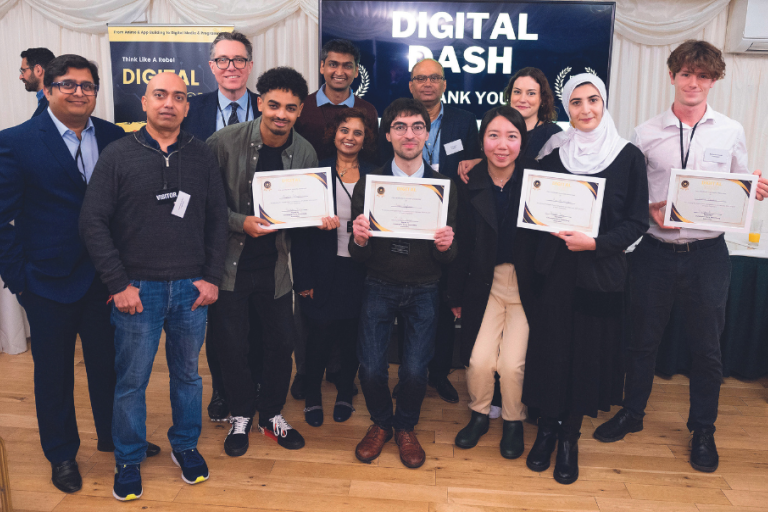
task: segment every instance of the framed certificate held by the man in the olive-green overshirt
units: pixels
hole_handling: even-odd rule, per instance
[[[322,226],[333,216],[331,168],[257,172],[253,175],[254,214],[270,229]]]

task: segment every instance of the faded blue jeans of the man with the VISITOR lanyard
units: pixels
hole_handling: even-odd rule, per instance
[[[131,281],[139,289],[144,311],[131,315],[112,308],[115,326],[115,410],[112,439],[117,464],[140,464],[147,451],[145,391],[165,329],[165,357],[171,381],[173,426],[168,440],[175,451],[195,448],[202,428],[203,382],[197,360],[205,339],[208,307],[192,311],[199,295],[179,281]]]

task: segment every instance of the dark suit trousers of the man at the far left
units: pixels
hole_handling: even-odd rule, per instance
[[[21,296],[27,311],[35,362],[35,407],[40,443],[53,464],[74,459],[80,448],[75,417],[75,342],[83,346],[88,393],[103,444],[112,445],[115,394],[115,331],[110,324],[107,288],[94,278],[80,300],[62,304],[31,291]]]

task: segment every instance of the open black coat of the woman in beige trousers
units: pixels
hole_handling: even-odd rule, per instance
[[[515,172],[522,173],[526,168],[537,169],[538,166],[534,160],[519,157]],[[491,188],[493,183],[488,175],[487,162],[483,160],[472,169],[469,173],[469,183],[457,181],[459,213],[456,237],[460,250],[449,268],[447,297],[450,307],[461,307],[461,361],[464,365],[469,365],[472,348],[491,294],[499,234],[496,199]],[[519,196],[521,189],[522,180],[517,180],[510,192]],[[517,223],[517,212],[514,215]],[[529,230],[518,228],[515,234],[513,260],[516,269],[518,266],[524,266],[520,265],[523,260],[535,257],[535,244],[526,241],[524,231]],[[518,272],[521,294],[530,289],[525,285],[528,277]],[[526,303],[529,302],[525,301],[524,304]]]

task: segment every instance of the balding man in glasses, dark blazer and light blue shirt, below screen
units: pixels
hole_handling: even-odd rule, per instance
[[[413,98],[420,101],[429,112],[431,128],[424,144],[424,160],[443,176],[456,181],[459,162],[480,158],[480,141],[477,135],[477,119],[474,114],[442,103],[446,80],[443,66],[434,59],[419,61],[411,70],[409,88]],[[392,143],[386,132],[379,131],[379,163],[392,160]],[[447,272],[443,272],[445,276]],[[440,282],[445,290],[445,278]],[[444,294],[442,294],[444,295]],[[398,322],[398,325],[402,322]],[[438,308],[435,357],[429,364],[429,385],[446,402],[459,401],[459,394],[448,380],[455,342],[454,317],[447,302],[441,300]],[[402,327],[398,330],[403,339]]]

